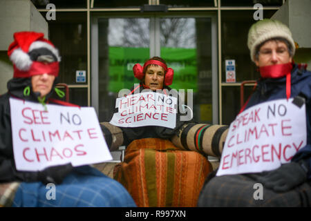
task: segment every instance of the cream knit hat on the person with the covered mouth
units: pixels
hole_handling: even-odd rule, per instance
[[[290,32],[290,28],[281,23],[281,21],[263,19],[261,21],[257,21],[251,28],[249,28],[247,46],[250,50],[250,57],[252,61],[255,59],[256,47],[275,37],[283,37],[288,40],[292,46],[294,56],[295,44],[292,39],[292,32]]]

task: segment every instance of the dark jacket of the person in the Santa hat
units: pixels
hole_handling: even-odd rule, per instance
[[[57,79],[55,79],[53,88]],[[30,78],[13,78],[8,81],[8,93],[0,95],[0,183],[1,182],[36,182],[46,180],[48,173],[62,173],[62,169],[65,167],[59,166],[59,168],[53,169],[53,171],[44,172],[27,172],[17,171],[15,167],[15,160],[12,148],[12,128],[10,117],[10,97],[17,97],[30,102],[38,102],[39,93],[33,93],[30,90],[30,95],[23,95],[23,90],[26,86],[31,85]],[[51,97],[53,90],[46,95],[46,99]],[[46,170],[47,171],[47,170]],[[45,171],[45,172],[46,172]],[[64,170],[63,170],[64,171]],[[66,173],[68,173],[68,167],[66,167]],[[50,174],[53,177],[53,174]]]

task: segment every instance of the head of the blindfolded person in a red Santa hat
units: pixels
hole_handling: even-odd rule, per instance
[[[62,96],[55,88],[61,60],[57,48],[44,39],[43,33],[16,32],[14,37],[8,48],[14,69],[13,79],[8,82],[10,94],[41,103],[53,95],[52,89]]]

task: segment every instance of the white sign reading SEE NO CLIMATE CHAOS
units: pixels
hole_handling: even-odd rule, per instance
[[[10,98],[12,142],[18,171],[41,171],[112,160],[93,107],[70,107]]]

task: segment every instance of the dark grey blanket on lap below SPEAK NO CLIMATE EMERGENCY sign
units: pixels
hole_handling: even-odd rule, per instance
[[[310,207],[311,181],[290,191],[277,193],[260,187],[262,173],[245,173],[214,177],[202,187],[200,207]],[[257,185],[257,186],[256,186]]]

